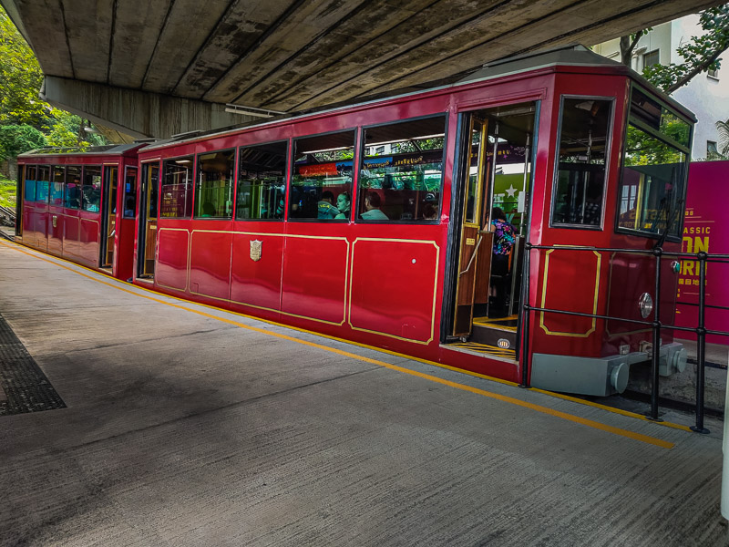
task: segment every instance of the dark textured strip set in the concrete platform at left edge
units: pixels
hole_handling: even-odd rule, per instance
[[[0,416],[66,408],[26,347],[0,315]]]

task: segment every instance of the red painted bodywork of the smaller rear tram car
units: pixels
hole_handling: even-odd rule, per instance
[[[43,153],[27,153],[18,157],[18,168],[47,166],[98,167],[101,171],[100,203],[108,203],[108,168],[117,168],[115,183],[123,188],[124,169],[127,166],[137,167],[137,150],[139,146],[128,147],[122,153],[58,153],[44,150]],[[27,172],[27,171],[25,171]],[[52,178],[52,177],[51,177]],[[24,181],[25,185],[25,181]],[[50,182],[53,186],[53,182]],[[110,264],[111,274],[118,279],[127,280],[132,276],[134,246],[134,219],[123,219],[121,209],[122,192],[116,193],[116,200],[109,203],[111,217],[115,219],[116,230],[113,230],[113,262]],[[24,201],[22,212],[22,233],[19,241],[46,253],[67,258],[70,261],[104,271],[101,268],[102,232],[104,226],[102,207],[98,211],[84,211],[64,206],[63,198],[49,191],[49,200]],[[108,271],[108,270],[107,270]]]

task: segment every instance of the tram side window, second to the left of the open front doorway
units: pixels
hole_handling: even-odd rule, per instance
[[[289,217],[348,221],[354,173],[354,130],[294,140]],[[342,198],[340,198],[342,196]],[[342,210],[337,203],[342,203]]]

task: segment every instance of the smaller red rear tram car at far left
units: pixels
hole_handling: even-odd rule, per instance
[[[20,241],[130,278],[140,146],[48,148],[20,155]]]

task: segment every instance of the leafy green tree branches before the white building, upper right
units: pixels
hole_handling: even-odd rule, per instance
[[[693,36],[676,48],[683,63],[643,69],[643,76],[666,93],[685,86],[697,74],[718,69],[722,60],[719,56],[729,48],[729,4],[703,11],[700,22],[705,34]]]

